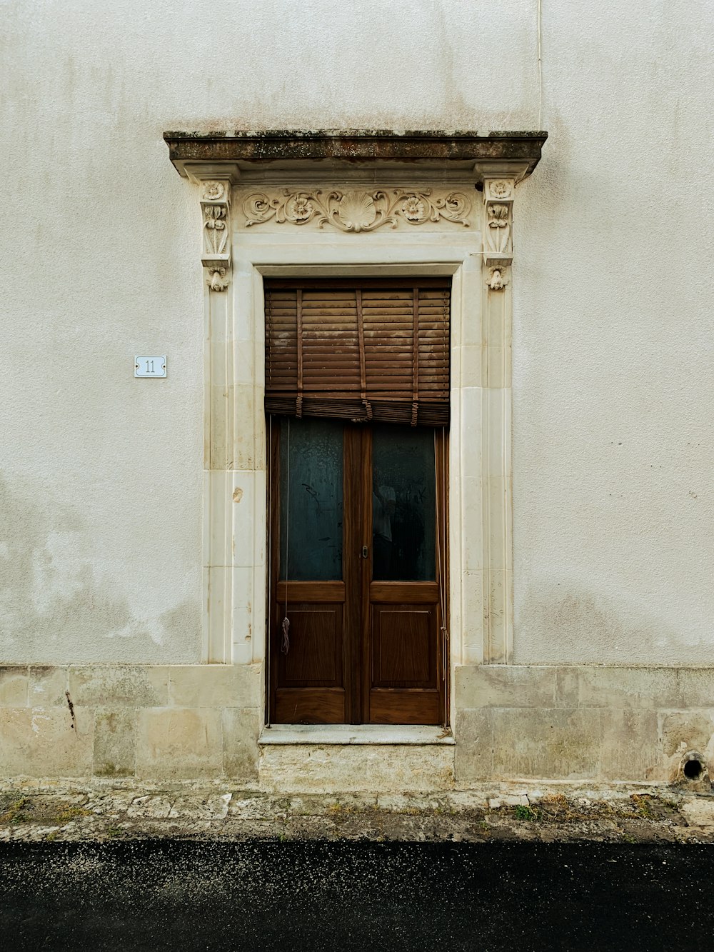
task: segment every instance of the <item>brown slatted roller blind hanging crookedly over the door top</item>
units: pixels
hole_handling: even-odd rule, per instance
[[[266,409],[448,423],[444,279],[266,280]]]

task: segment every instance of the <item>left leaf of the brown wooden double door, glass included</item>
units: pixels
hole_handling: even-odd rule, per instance
[[[343,724],[353,677],[346,631],[354,615],[343,565],[344,498],[351,493],[344,426],[287,420],[270,428],[270,718]]]

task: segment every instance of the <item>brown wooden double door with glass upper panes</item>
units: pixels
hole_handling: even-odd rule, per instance
[[[271,722],[444,724],[444,430],[269,430]]]

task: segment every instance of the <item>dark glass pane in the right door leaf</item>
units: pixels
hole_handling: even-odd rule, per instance
[[[372,578],[436,580],[434,434],[375,426],[372,442]]]

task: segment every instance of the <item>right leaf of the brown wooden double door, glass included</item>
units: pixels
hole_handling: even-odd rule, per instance
[[[366,458],[372,486],[366,508],[373,558],[365,688],[370,724],[439,724],[445,719],[437,448],[433,431],[424,427],[375,426],[371,433]]]

